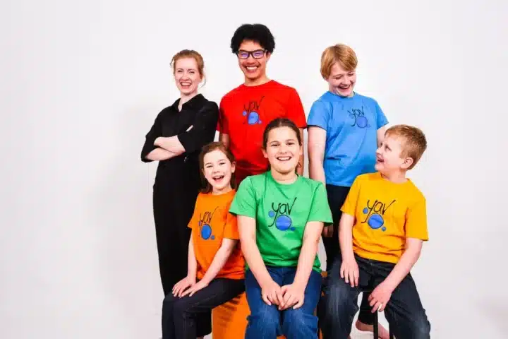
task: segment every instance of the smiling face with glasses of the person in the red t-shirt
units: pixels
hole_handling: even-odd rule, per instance
[[[244,40],[238,49],[238,66],[250,81],[254,81],[266,74],[266,64],[270,54],[265,52],[258,42]]]

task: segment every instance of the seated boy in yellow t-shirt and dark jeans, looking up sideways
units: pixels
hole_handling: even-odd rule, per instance
[[[420,129],[392,126],[376,151],[377,172],[353,182],[341,208],[341,256],[329,271],[320,305],[323,338],[348,338],[358,294],[371,289],[370,307],[386,310],[395,338],[430,338],[410,273],[428,240],[425,196],[406,178],[426,148]]]

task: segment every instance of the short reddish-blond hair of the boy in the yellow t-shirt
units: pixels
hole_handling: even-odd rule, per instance
[[[385,136],[401,138],[401,157],[411,157],[413,163],[408,169],[415,167],[421,156],[427,149],[427,139],[421,129],[409,125],[394,125],[387,129]]]

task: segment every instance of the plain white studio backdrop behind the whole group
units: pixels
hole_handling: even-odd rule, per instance
[[[254,22],[276,37],[269,76],[306,112],[327,90],[322,49],[344,42],[356,90],[425,131],[411,178],[430,242],[413,275],[432,336],[506,338],[507,2],[174,2],[2,4],[0,338],[159,338],[144,136],[177,98],[172,55],[201,52],[219,102],[243,81],[231,35]]]

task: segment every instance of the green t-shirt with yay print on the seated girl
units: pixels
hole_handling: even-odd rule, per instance
[[[270,171],[246,177],[229,212],[255,218],[256,242],[266,266],[296,267],[307,222],[332,223],[321,182],[298,177],[293,184],[279,184]],[[321,272],[317,254],[313,269]]]

